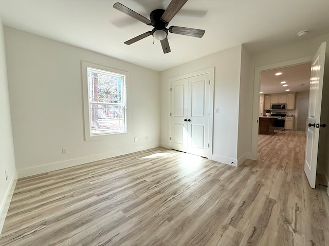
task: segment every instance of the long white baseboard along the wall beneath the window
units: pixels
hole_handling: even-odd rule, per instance
[[[56,170],[60,170],[60,169],[64,169],[64,168],[70,168],[70,167],[82,165],[85,163],[103,160],[103,159],[107,159],[107,158],[111,158],[111,157],[115,157],[115,156],[119,156],[119,155],[125,155],[125,154],[134,153],[137,151],[148,150],[148,149],[152,149],[152,148],[156,148],[156,147],[159,147],[158,142],[155,144],[150,144],[150,145],[121,149],[121,150],[105,152],[105,153],[101,153],[101,154],[97,154],[97,155],[90,155],[90,156],[84,156],[84,157],[70,159],[70,160],[52,162],[52,163],[48,163],[45,165],[40,165],[40,166],[26,168],[26,169],[19,169],[18,177],[23,178],[23,177],[36,175],[36,174],[47,173],[47,172],[56,171]]]

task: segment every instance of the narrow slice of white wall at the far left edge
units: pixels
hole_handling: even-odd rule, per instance
[[[0,233],[16,183],[3,24],[0,19]],[[8,178],[6,180],[7,171]]]

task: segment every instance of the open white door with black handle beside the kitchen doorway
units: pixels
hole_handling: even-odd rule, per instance
[[[321,116],[321,100],[324,72],[326,43],[322,43],[313,57],[310,73],[308,116],[307,116],[307,136],[304,171],[307,176],[310,187],[315,188],[315,178],[317,172],[318,146],[320,116]]]

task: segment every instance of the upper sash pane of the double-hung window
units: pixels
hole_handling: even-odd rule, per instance
[[[88,70],[88,96],[90,103],[122,104],[123,77],[111,73]]]

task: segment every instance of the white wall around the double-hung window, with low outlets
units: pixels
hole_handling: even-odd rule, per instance
[[[159,72],[10,27],[4,33],[19,177],[159,146]],[[84,141],[81,60],[129,73],[128,135]]]

